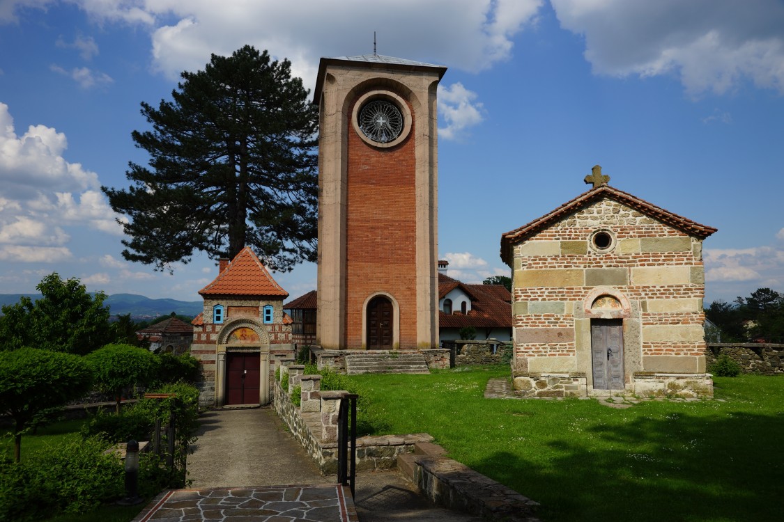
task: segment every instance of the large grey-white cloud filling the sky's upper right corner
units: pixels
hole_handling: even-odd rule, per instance
[[[784,93],[784,5],[778,0],[550,0],[586,41],[597,74],[677,74],[690,95],[750,80]]]

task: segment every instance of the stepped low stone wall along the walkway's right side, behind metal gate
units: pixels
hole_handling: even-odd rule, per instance
[[[337,473],[337,413],[339,399],[347,391],[321,391],[321,376],[302,375],[304,366],[292,361],[281,361],[281,377],[289,374],[289,389],[284,390],[279,380],[274,381],[274,408],[303,448],[321,470],[321,474]],[[291,398],[299,385],[301,405]],[[317,400],[318,398],[318,400]],[[318,404],[318,411],[314,411]],[[308,411],[303,411],[308,410]],[[357,439],[357,470],[388,470],[397,466],[397,455],[414,451],[419,442],[433,441],[428,434],[387,435]]]

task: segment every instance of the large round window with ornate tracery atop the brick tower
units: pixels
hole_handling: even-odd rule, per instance
[[[359,137],[374,147],[385,149],[402,142],[411,131],[411,110],[400,96],[376,90],[354,103],[351,123]]]

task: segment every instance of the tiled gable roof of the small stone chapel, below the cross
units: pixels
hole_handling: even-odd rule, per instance
[[[587,207],[588,205],[601,200],[609,198],[619,203],[631,207],[636,211],[641,212],[647,216],[657,219],[666,225],[670,225],[674,229],[681,230],[690,236],[696,236],[702,239],[716,232],[717,229],[707,225],[700,225],[696,221],[684,218],[678,214],[673,214],[666,211],[661,207],[656,207],[653,203],[641,200],[638,197],[632,196],[630,193],[625,193],[622,190],[615,189],[609,185],[599,185],[596,188],[590,189],[585,193],[580,194],[571,201],[567,201],[549,214],[543,215],[541,218],[535,219],[523,225],[519,229],[511,230],[501,235],[501,259],[506,265],[511,265],[512,262],[512,247],[528,239],[531,236],[541,232],[556,221],[564,218],[567,215],[574,214],[576,211]]]

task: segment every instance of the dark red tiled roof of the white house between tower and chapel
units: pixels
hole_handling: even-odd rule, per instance
[[[438,298],[442,299],[456,287],[460,287],[471,298],[471,309],[466,315],[460,312],[445,314],[438,312],[439,328],[511,328],[512,295],[505,286],[475,285],[461,283],[448,275],[438,274]],[[447,290],[448,289],[448,290]],[[500,290],[499,290],[500,289]]]

